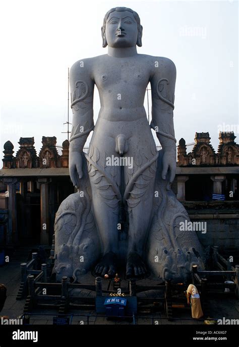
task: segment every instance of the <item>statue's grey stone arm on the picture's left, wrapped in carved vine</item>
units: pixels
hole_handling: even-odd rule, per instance
[[[72,183],[79,188],[82,178],[82,151],[94,128],[94,80],[87,60],[76,62],[70,70],[71,107],[73,112],[69,148],[69,171]]]

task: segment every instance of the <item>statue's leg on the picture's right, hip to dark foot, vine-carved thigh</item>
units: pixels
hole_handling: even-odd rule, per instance
[[[151,134],[150,134],[151,135]],[[144,139],[142,140],[142,142]],[[137,144],[137,148],[135,148]],[[139,146],[140,145],[140,146]],[[142,146],[141,146],[142,145]],[[142,277],[146,272],[144,249],[153,215],[154,185],[157,169],[156,146],[147,138],[147,146],[132,141],[129,153],[133,169],[125,169],[125,200],[128,211],[129,246],[126,277]]]

